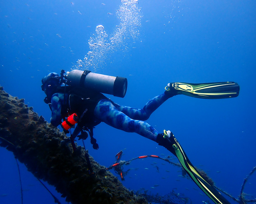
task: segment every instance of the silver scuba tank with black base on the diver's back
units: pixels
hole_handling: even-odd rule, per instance
[[[121,98],[124,98],[127,90],[127,79],[119,76],[101,75],[88,70],[75,69],[67,72],[65,78],[69,86],[91,89]]]

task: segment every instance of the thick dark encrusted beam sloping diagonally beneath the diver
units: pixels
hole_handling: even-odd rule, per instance
[[[85,150],[81,146],[73,152],[71,145],[60,145],[66,135],[43,116],[28,107],[24,99],[12,97],[0,87],[1,146],[12,151],[26,165],[28,171],[50,185],[66,198],[80,203],[148,203],[133,194],[106,167],[90,162],[88,171]]]

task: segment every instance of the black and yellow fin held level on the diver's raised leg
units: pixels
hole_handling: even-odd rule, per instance
[[[240,87],[236,82],[214,83],[169,83],[165,90],[195,98],[220,99],[234,98],[239,94]]]

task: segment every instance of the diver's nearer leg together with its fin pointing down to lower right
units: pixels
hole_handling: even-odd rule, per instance
[[[196,168],[189,161],[186,153],[181,148],[177,139],[170,131],[165,131],[164,134],[159,134],[148,123],[133,120],[127,115],[117,110],[116,107],[107,99],[99,101],[94,109],[94,115],[97,119],[108,125],[124,130],[126,132],[136,132],[144,137],[156,141],[159,145],[164,146],[167,150],[173,153],[180,161],[182,167],[188,173],[188,176],[201,188],[204,193],[211,198],[214,203],[230,204],[211,184],[198,173]]]

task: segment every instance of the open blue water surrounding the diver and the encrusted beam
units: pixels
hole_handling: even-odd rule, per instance
[[[130,14],[123,10],[127,6],[125,2],[134,4]],[[244,177],[256,165],[256,3],[228,0],[125,2],[1,1],[1,86],[12,96],[25,98],[26,104],[49,121],[51,113],[43,101],[41,79],[48,72],[77,68],[78,59],[82,60],[82,67],[78,68],[126,77],[125,98],[108,97],[136,108],[142,108],[148,99],[163,93],[169,82],[235,81],[240,85],[237,98],[205,100],[176,96],[159,107],[147,122],[159,132],[170,129],[190,161],[206,171],[216,186],[237,197]],[[98,25],[104,27],[105,37],[96,38]],[[115,40],[109,43],[113,37]],[[89,40],[111,45],[106,44],[104,49],[97,45],[93,50]],[[84,59],[92,59],[92,56],[91,63]],[[149,154],[171,155],[146,138],[104,123],[97,126],[94,135],[99,150],[92,149],[89,141],[86,141],[86,148],[106,167],[114,163],[116,153],[123,149],[122,160]],[[80,141],[78,144],[82,145]],[[15,158],[5,148],[0,148],[0,155],[0,203],[21,203]],[[159,172],[151,165],[153,162],[157,162]],[[54,203],[26,167],[19,165],[23,203]],[[164,161],[135,160],[124,166],[124,170],[129,168],[139,169],[130,170],[125,177],[122,183],[127,188],[145,188],[160,195],[176,188],[175,192],[189,197],[192,203],[209,200],[200,194],[203,192],[194,182],[179,177],[179,168]],[[245,186],[245,192],[252,193],[254,198],[255,181],[253,175]],[[159,186],[151,188],[156,184]],[[49,188],[61,203],[66,203],[54,187]]]

